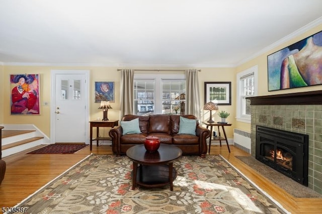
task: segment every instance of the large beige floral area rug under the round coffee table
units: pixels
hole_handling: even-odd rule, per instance
[[[183,156],[174,167],[174,191],[169,185],[132,190],[126,156],[91,155],[17,207],[25,213],[285,213],[220,156]]]

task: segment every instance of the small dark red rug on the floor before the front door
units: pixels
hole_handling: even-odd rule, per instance
[[[86,147],[86,144],[50,144],[27,154],[72,154]]]

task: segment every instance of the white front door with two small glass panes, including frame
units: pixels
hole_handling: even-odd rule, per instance
[[[79,70],[52,72],[52,143],[88,144],[87,74]]]

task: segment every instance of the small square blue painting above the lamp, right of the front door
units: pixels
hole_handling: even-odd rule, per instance
[[[114,82],[95,82],[95,102],[114,102]]]

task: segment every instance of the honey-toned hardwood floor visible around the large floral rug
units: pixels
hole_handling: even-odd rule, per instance
[[[228,152],[227,147],[224,145],[222,147],[212,146],[210,154],[221,154],[289,212],[321,213],[322,198],[292,197],[245,163],[235,158],[235,156],[248,156],[248,153],[233,146],[230,146],[230,150],[231,153]],[[91,153],[112,154],[112,150],[109,145],[101,145],[99,147],[93,145],[92,152],[90,147],[87,146],[74,154],[25,153],[27,151],[3,159],[7,163],[7,170],[5,179],[0,185],[0,207],[16,205]]]

